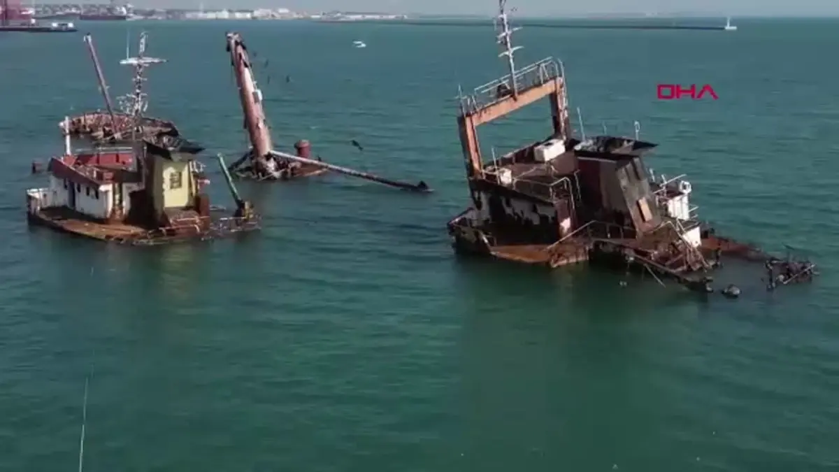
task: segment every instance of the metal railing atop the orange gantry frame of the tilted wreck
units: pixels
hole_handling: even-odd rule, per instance
[[[563,76],[565,76],[565,72],[562,62],[555,60],[553,57],[547,57],[524,67],[524,69],[519,69],[515,74],[508,74],[487,82],[481,87],[476,87],[471,95],[464,96],[461,92],[457,97],[460,100],[461,113],[464,115],[477,113],[477,111],[487,108],[493,103],[500,102],[509,94],[498,93],[498,91],[503,90],[503,87],[510,87],[510,90],[512,90],[513,84],[511,82],[514,82],[518,92],[522,93]]]

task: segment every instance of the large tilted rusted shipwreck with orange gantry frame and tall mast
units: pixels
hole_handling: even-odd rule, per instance
[[[711,270],[732,257],[762,262],[774,288],[809,281],[808,260],[781,260],[716,235],[690,206],[684,176],[656,179],[644,155],[656,144],[636,136],[576,138],[565,73],[548,58],[516,70],[513,31],[499,2],[498,42],[509,74],[460,94],[457,122],[472,207],[448,223],[456,250],[557,268],[583,261],[641,270],[694,291],[709,292]],[[553,134],[484,162],[477,128],[549,98]],[[663,283],[663,282],[662,282]],[[738,289],[722,290],[737,296]]]

